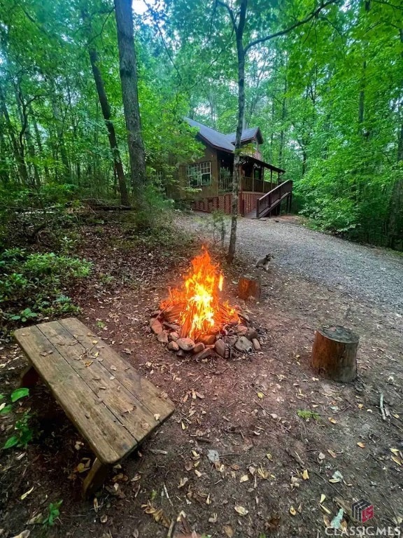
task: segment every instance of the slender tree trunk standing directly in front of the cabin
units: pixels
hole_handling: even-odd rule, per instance
[[[239,186],[241,183],[240,152],[243,127],[243,113],[245,110],[245,50],[243,48],[243,29],[246,22],[246,7],[248,0],[241,0],[239,8],[239,23],[236,32],[236,53],[238,55],[238,123],[236,125],[234,172],[232,173],[232,207],[231,207],[231,233],[229,235],[229,249],[227,262],[234,260],[236,246],[236,225],[238,223]]]

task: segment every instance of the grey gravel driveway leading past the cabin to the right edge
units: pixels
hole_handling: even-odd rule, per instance
[[[191,221],[192,228],[206,230],[211,216],[198,213]],[[284,273],[403,312],[403,256],[399,254],[344,241],[281,219],[239,219],[236,249],[252,261],[270,252],[274,254],[274,268]]]

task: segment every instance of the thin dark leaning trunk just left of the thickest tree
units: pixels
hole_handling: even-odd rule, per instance
[[[108,97],[106,96],[105,85],[102,79],[101,71],[97,65],[98,54],[94,48],[89,50],[90,62],[92,68],[92,74],[94,75],[95,85],[97,86],[97,92],[99,97],[99,104],[101,104],[102,114],[104,115],[106,129],[108,130],[109,144],[111,145],[113,156],[113,167],[118,176],[119,190],[120,190],[120,202],[122,205],[129,205],[129,194],[127,193],[127,185],[125,172],[123,172],[122,160],[120,159],[120,153],[118,149],[118,142],[116,140],[115,127],[111,120],[111,106],[108,103]]]

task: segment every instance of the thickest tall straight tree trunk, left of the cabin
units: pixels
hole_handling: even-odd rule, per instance
[[[132,188],[136,196],[136,203],[140,206],[143,201],[143,186],[146,183],[146,155],[141,135],[132,1],[114,0],[114,3]]]

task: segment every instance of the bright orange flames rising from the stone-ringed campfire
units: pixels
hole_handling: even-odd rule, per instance
[[[181,324],[181,336],[194,340],[206,334],[218,333],[224,324],[239,323],[239,316],[227,301],[220,302],[224,276],[218,265],[211,263],[204,250],[192,259],[181,289],[170,289],[169,298],[162,301],[162,310],[175,312]]]

